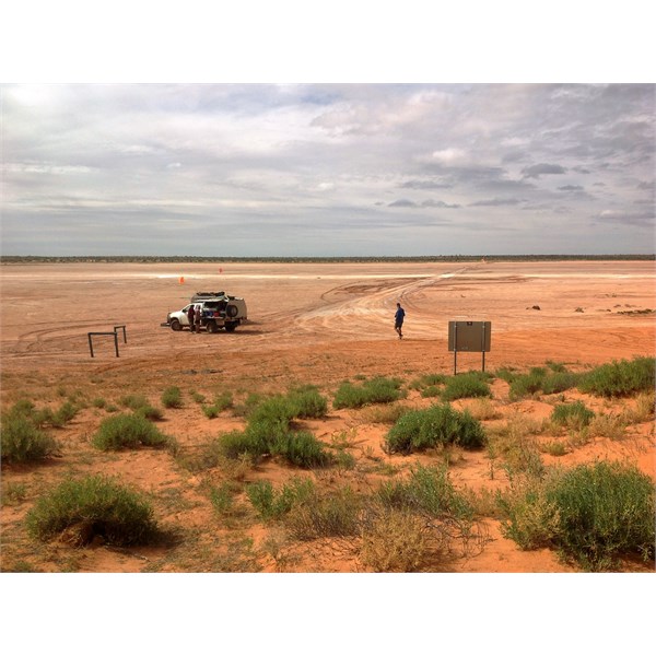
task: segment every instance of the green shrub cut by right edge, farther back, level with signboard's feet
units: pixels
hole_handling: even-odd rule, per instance
[[[653,391],[656,379],[656,358],[613,361],[585,374],[578,389],[607,398],[625,397],[640,391]]]

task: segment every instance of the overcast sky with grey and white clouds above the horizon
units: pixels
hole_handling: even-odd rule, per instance
[[[656,250],[653,84],[4,84],[3,255]]]

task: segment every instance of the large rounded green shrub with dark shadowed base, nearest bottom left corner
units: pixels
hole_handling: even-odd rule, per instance
[[[26,523],[34,538],[48,540],[67,531],[79,546],[96,536],[117,546],[143,543],[156,530],[149,502],[102,476],[66,480],[36,502]]]

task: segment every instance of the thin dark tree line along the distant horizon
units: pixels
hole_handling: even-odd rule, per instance
[[[353,257],[232,257],[232,256],[140,256],[140,255],[92,255],[92,256],[33,256],[10,255],[0,257],[1,263],[202,263],[202,262],[262,262],[262,263],[339,263],[339,262],[531,262],[531,261],[573,261],[573,260],[655,260],[656,254],[614,254],[614,255],[421,255],[421,256],[353,256]]]

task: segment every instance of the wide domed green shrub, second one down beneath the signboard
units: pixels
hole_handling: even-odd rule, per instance
[[[410,453],[455,444],[462,448],[483,446],[485,434],[479,421],[448,403],[403,414],[386,436],[389,453]]]

